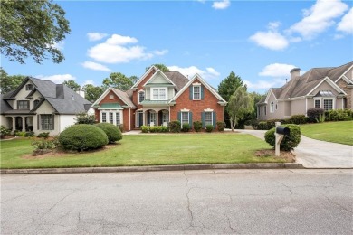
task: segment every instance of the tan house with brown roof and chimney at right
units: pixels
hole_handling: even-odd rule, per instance
[[[307,115],[310,108],[353,108],[353,62],[300,72],[299,68],[292,69],[291,80],[281,88],[270,89],[257,103],[259,120]]]

